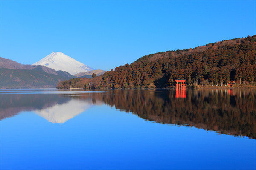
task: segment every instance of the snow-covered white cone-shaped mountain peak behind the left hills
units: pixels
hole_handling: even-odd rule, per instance
[[[52,52],[40,61],[33,63],[33,65],[43,65],[57,71],[66,71],[71,75],[77,74],[79,72],[95,70],[79,61],[76,61],[70,56],[63,54],[62,52]]]

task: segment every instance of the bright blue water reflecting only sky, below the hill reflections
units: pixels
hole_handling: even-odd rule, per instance
[[[33,110],[0,121],[1,170],[256,169],[255,139],[148,121],[104,103],[64,123],[49,120]]]

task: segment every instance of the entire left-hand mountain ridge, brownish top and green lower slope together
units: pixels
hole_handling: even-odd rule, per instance
[[[54,88],[59,81],[74,78],[68,72],[46,66],[24,65],[0,57],[0,89]]]

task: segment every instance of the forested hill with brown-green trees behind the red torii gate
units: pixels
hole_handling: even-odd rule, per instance
[[[187,85],[255,82],[256,35],[147,55],[96,79],[63,81],[57,88],[170,87],[175,85],[175,79],[186,79]]]

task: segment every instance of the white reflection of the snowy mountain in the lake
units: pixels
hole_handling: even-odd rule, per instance
[[[71,99],[67,103],[56,104],[52,107],[35,110],[35,112],[52,123],[64,123],[88,109],[92,105],[90,103]]]

